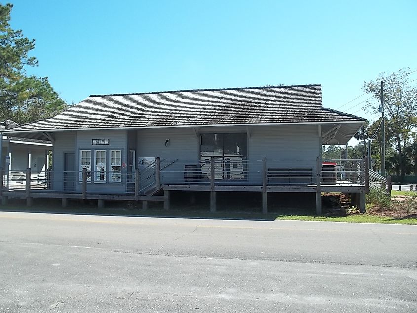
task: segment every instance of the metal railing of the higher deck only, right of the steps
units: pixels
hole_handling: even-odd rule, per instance
[[[264,172],[264,162],[266,170]],[[213,175],[212,175],[213,167]],[[319,169],[323,184],[363,184],[363,160],[332,160]],[[161,170],[161,182],[169,184],[210,184],[213,176],[217,185],[310,185],[317,180],[316,160],[246,160],[213,158],[205,160],[177,160],[169,169]]]

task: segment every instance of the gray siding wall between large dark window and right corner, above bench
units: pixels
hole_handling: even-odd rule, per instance
[[[259,181],[262,162],[257,160],[263,157],[267,158],[267,167],[308,167],[315,171],[321,150],[317,125],[253,127],[250,133],[250,181]]]

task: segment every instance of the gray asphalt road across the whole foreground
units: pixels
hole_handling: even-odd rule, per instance
[[[417,227],[0,212],[1,312],[417,312]]]

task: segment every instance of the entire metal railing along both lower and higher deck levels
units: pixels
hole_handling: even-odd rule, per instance
[[[259,159],[211,157],[200,160],[155,158],[154,162],[126,171],[10,171],[3,177],[4,190],[62,191],[152,195],[161,184],[307,186],[337,184],[363,186],[366,183],[364,160]],[[319,174],[319,175],[317,175]],[[369,171],[370,185],[383,181]],[[379,176],[379,177],[378,177]],[[386,180],[385,180],[386,182]],[[105,186],[103,186],[104,184]]]

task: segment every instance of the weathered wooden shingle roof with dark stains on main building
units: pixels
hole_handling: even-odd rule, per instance
[[[360,122],[322,107],[321,85],[92,95],[15,131]]]

